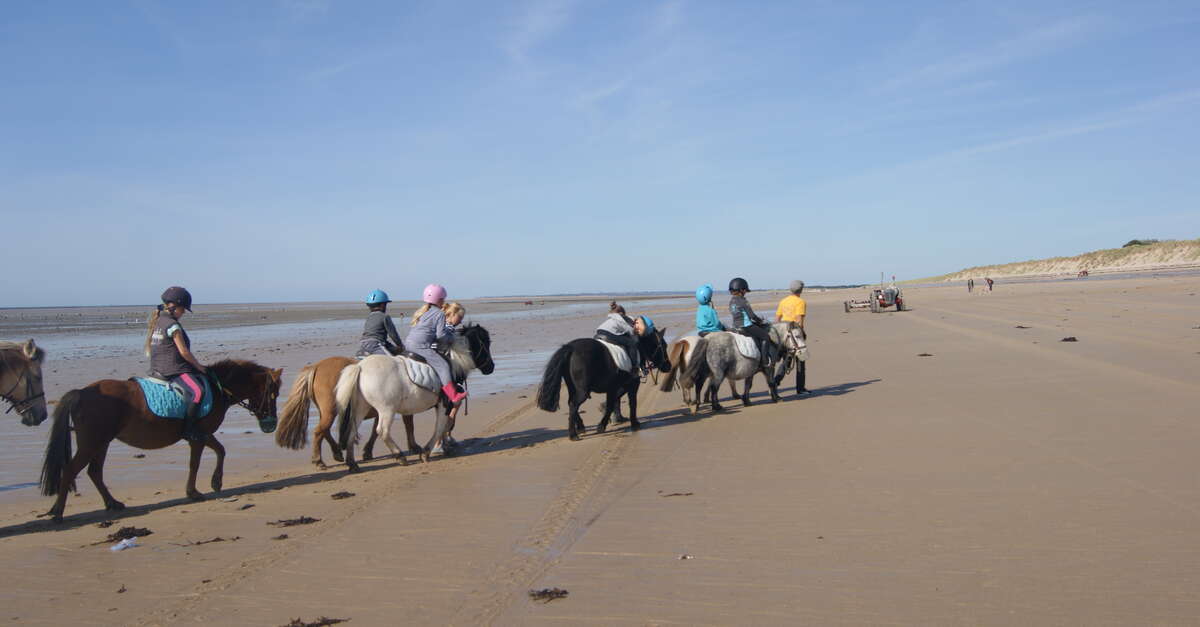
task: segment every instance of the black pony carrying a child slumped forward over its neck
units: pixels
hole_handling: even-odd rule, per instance
[[[637,350],[643,359],[648,359],[662,372],[671,370],[667,344],[662,339],[665,333],[666,329],[654,329],[653,333],[637,338]],[[546,363],[541,387],[538,388],[538,407],[557,412],[559,388],[566,383],[566,402],[570,408],[566,431],[571,440],[578,440],[580,434],[587,429],[580,417],[580,406],[593,392],[605,394],[604,418],[596,425],[598,434],[608,429],[608,417],[620,406],[620,398],[625,395],[629,398],[629,428],[636,431],[642,428],[637,422],[637,388],[642,384],[637,366],[638,364],[634,364],[634,372],[617,368],[608,348],[599,340],[571,340],[554,351]]]

